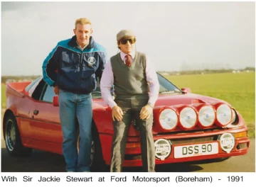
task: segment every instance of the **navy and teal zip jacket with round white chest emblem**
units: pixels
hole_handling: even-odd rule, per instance
[[[58,42],[58,45],[43,61],[43,79],[49,86],[58,86],[74,94],[90,94],[96,89],[97,77],[102,77],[107,53],[105,47],[90,37],[90,42],[81,50],[76,36]]]

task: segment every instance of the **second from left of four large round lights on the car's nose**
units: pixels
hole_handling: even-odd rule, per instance
[[[180,122],[183,128],[189,129],[196,125],[196,111],[193,108],[183,108],[180,113]]]

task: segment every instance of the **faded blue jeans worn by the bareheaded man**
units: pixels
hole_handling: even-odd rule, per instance
[[[90,171],[92,96],[91,94],[73,94],[60,90],[58,99],[63,132],[63,156],[67,164],[66,171]],[[80,130],[79,153],[75,118],[78,118]]]

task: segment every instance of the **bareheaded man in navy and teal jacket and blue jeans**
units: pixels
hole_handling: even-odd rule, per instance
[[[87,18],[75,21],[73,38],[58,42],[43,62],[43,79],[58,95],[66,171],[90,171],[92,96],[106,63],[105,47],[92,38]],[[79,152],[76,146],[78,119]]]

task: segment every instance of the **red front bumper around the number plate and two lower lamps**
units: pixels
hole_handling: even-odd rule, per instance
[[[235,138],[235,146],[228,153],[223,151],[220,147],[220,140],[217,137],[223,135],[223,133],[229,132],[233,135],[238,132],[246,132],[247,128],[245,126],[241,128],[234,129],[221,129],[215,130],[212,132],[187,132],[173,135],[156,135],[154,136],[154,141],[159,139],[169,140],[171,142],[176,142],[171,145],[171,153],[164,160],[156,158],[157,164],[169,164],[169,163],[177,163],[177,162],[193,162],[204,159],[217,159],[222,157],[233,157],[239,156],[243,154],[247,154],[247,151],[250,146],[250,139],[248,136],[246,137],[236,137]],[[106,164],[110,164],[110,155],[111,155],[111,145],[112,145],[112,135],[100,135],[100,139],[104,142],[102,145],[103,157],[105,159]],[[193,140],[198,140],[197,142],[193,142]],[[208,143],[218,144],[218,152],[214,154],[208,155],[196,155],[193,157],[183,157],[183,158],[175,158],[174,157],[174,149],[177,146],[184,145],[203,145]],[[132,146],[130,146],[132,145]],[[125,151],[124,163],[123,166],[142,166],[142,157],[141,157],[141,147],[139,143],[139,137],[128,137],[127,139],[127,148]]]

